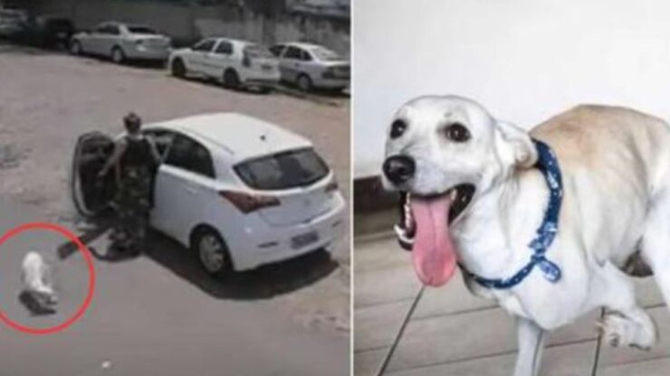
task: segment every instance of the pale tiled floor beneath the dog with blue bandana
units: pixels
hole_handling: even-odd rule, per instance
[[[354,370],[357,376],[508,376],[516,358],[510,316],[472,296],[462,279],[422,288],[394,238],[355,241]],[[600,343],[593,312],[550,335],[541,375],[670,375],[670,315],[651,278],[640,302],[661,341],[648,352]]]

